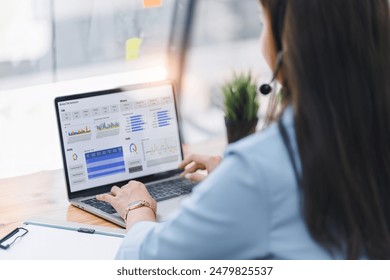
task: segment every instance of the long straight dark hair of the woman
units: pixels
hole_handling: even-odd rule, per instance
[[[261,0],[274,36],[280,1]],[[330,253],[390,259],[389,1],[286,5],[282,71],[308,230]]]

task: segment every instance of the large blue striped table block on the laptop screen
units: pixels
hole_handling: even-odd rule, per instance
[[[88,179],[126,172],[122,147],[85,154]]]

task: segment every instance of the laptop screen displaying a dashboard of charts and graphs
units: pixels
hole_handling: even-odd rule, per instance
[[[70,192],[177,169],[181,142],[172,84],[57,102]]]

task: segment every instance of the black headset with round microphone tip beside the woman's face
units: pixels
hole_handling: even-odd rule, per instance
[[[283,33],[284,16],[286,13],[286,6],[287,6],[287,0],[280,0],[278,15],[272,19],[272,27],[274,29],[273,33],[275,36],[276,49],[278,54],[276,57],[276,66],[271,81],[267,84],[262,84],[259,88],[260,93],[263,95],[268,95],[272,92],[271,83],[275,81],[279,73],[279,70],[282,67],[282,62],[283,62],[282,33]]]

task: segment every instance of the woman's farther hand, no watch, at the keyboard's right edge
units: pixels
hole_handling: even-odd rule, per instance
[[[192,181],[202,181],[206,175],[200,174],[198,170],[206,170],[207,173],[212,172],[221,162],[220,156],[206,155],[190,155],[185,158],[179,165],[184,172],[180,176],[184,176]]]

